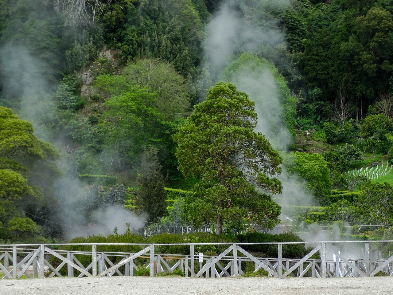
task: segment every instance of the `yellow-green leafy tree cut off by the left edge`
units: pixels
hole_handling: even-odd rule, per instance
[[[43,197],[29,170],[45,183],[48,175],[43,171],[50,169],[43,161],[56,159],[58,153],[33,131],[29,122],[0,107],[0,239],[4,242],[34,241],[40,233],[40,227],[24,215],[24,210],[31,210],[32,200],[39,202]],[[37,164],[42,171],[34,170]]]

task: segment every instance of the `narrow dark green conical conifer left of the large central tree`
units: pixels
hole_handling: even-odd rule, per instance
[[[149,214],[149,221],[156,222],[165,213],[167,193],[164,190],[162,166],[158,162],[158,150],[150,146],[143,150],[137,205]]]

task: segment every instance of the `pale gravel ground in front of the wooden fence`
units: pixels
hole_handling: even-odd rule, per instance
[[[0,280],[0,295],[361,295],[393,294],[393,277],[181,278],[103,277]]]

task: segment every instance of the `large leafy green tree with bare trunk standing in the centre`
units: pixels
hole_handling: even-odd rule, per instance
[[[270,195],[280,193],[281,157],[269,141],[254,131],[254,102],[231,83],[216,83],[206,101],[174,135],[176,157],[185,176],[202,181],[184,202],[184,214],[194,225],[250,218],[266,228],[278,222],[280,207]]]

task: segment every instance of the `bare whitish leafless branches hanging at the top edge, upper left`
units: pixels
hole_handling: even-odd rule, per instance
[[[104,3],[99,0],[42,0],[44,4],[53,3],[57,13],[63,15],[65,24],[70,28],[94,25],[96,16],[102,13]],[[106,1],[108,4],[110,0]]]

